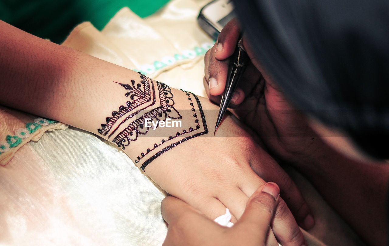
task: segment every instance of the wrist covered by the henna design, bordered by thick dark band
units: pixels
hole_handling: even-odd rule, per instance
[[[120,105],[96,131],[122,148],[142,170],[175,146],[208,133],[198,97],[138,74],[121,89]]]

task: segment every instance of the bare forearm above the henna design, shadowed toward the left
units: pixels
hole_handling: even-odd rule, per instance
[[[4,22],[0,30],[2,105],[93,131],[107,100],[119,103],[113,96],[119,89],[110,83],[136,74]]]

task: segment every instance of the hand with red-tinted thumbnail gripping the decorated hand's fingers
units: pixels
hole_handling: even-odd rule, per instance
[[[274,183],[262,185],[254,192],[242,217],[231,228],[218,225],[175,197],[163,199],[161,212],[168,223],[165,246],[278,245],[274,237],[268,237],[272,234],[269,225],[274,232],[277,232],[275,227],[282,228],[282,235],[276,234],[282,245],[306,245],[297,223],[288,216],[291,213]]]

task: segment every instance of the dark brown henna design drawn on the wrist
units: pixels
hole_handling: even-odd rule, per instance
[[[107,117],[105,119],[106,123],[101,124],[102,128],[97,131],[103,136],[109,134],[108,139],[116,134],[112,142],[123,148],[123,150],[131,142],[136,141],[138,136],[151,136],[154,142],[134,158],[137,164],[143,162],[140,169],[144,170],[159,155],[186,140],[207,134],[208,129],[202,106],[196,95],[186,91],[176,93],[176,96],[185,98],[188,102],[187,108],[180,110],[184,114],[180,113],[174,106],[172,90],[168,85],[149,79],[141,73],[139,74],[139,82],[135,82],[135,80],[131,80],[131,84],[115,82],[128,91],[125,96],[129,100],[125,103],[125,106],[121,105],[117,111],[113,111],[111,113],[112,117]],[[193,120],[189,120],[189,117]],[[155,127],[145,126],[146,119],[156,122],[165,121],[166,119],[185,120],[184,126],[180,126],[179,129],[173,128],[159,133],[158,125]],[[155,135],[158,135],[158,133],[160,135],[158,139],[160,140],[157,141]]]

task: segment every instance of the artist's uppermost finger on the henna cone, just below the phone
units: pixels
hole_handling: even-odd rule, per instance
[[[216,41],[215,58],[224,60],[229,58],[235,51],[240,35],[240,27],[237,19],[234,18],[229,21],[221,30]]]

